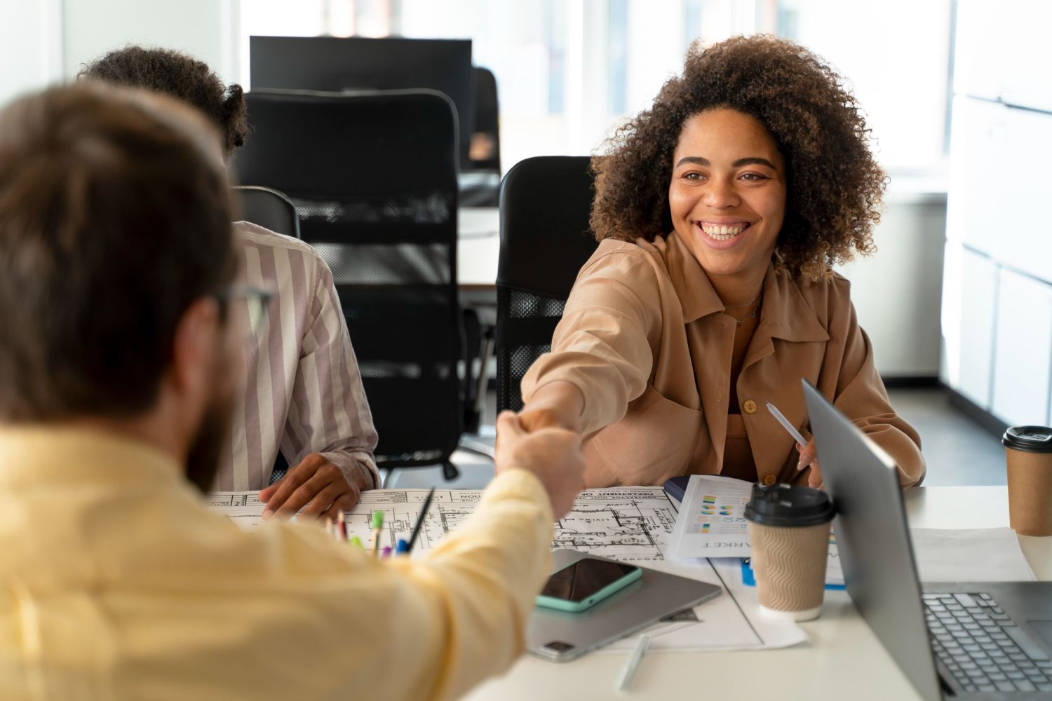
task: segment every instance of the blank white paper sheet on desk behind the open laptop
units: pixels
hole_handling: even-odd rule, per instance
[[[910,529],[923,582],[1034,581],[1015,531]]]

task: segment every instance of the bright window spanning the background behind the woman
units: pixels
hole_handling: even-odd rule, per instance
[[[600,148],[682,69],[693,40],[777,33],[850,80],[886,167],[925,169],[946,153],[950,2],[242,0],[241,65],[254,34],[470,38],[474,63],[497,77],[506,170]]]

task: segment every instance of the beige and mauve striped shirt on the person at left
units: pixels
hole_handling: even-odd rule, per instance
[[[263,489],[279,449],[291,467],[321,453],[349,483],[364,472],[379,486],[377,432],[331,271],[301,241],[247,222],[234,228],[244,282],[275,297],[245,351],[244,404],[235,411],[215,489]]]

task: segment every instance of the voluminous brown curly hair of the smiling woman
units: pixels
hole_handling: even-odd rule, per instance
[[[789,174],[778,265],[820,280],[854,252],[871,253],[887,176],[870,130],[841,78],[806,48],[771,36],[733,37],[687,54],[683,75],[662,87],[592,159],[595,238],[634,241],[672,230],[668,188],[684,123],[729,107],[764,124]]]

